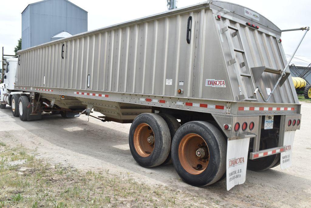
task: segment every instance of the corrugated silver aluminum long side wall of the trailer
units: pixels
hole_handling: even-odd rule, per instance
[[[190,44],[186,41],[189,16],[193,18]],[[21,75],[18,85],[234,99],[208,8],[52,42],[21,51],[21,56],[26,77]],[[205,80],[213,78],[225,79],[227,88],[206,87]]]

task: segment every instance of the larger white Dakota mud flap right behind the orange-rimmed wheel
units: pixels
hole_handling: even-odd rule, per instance
[[[227,190],[243,184],[246,178],[249,138],[228,140]]]

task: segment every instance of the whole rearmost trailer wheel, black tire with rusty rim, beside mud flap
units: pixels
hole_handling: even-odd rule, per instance
[[[211,185],[226,171],[225,138],[205,121],[183,124],[175,133],[171,153],[176,172],[192,186]]]

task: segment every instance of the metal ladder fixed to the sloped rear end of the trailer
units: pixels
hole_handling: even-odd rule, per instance
[[[234,32],[230,33],[229,29],[234,30]],[[235,73],[236,73],[236,76],[237,76],[237,79],[238,79],[238,82],[239,82],[240,94],[238,95],[238,100],[239,101],[244,101],[244,100],[247,100],[247,101],[257,101],[257,99],[254,98],[254,96],[255,96],[254,94],[252,94],[251,96],[248,97],[247,94],[246,94],[246,91],[244,89],[244,84],[243,84],[242,76],[248,77],[248,79],[250,80],[250,83],[253,84],[252,85],[252,92],[254,92],[254,90],[255,90],[255,85],[254,85],[254,82],[253,82],[253,79],[252,79],[252,76],[251,76],[250,69],[249,69],[248,65],[245,64],[246,56],[245,56],[245,52],[244,52],[241,36],[239,34],[239,29],[237,27],[233,27],[231,25],[226,24],[225,27],[221,28],[221,33],[225,33],[225,35],[227,37],[228,44],[229,44],[229,49],[230,49],[230,53],[231,53],[231,57],[232,57],[232,59],[230,59],[228,61],[228,63],[229,63],[229,65],[232,65],[232,64],[234,65],[234,70],[235,70]],[[231,36],[232,37],[237,36],[238,41],[239,41],[239,45],[242,46],[242,49],[238,49],[238,48],[234,47],[234,43],[232,41]],[[241,62],[240,64],[237,63],[237,58],[235,56],[235,52],[242,54],[244,62]],[[241,73],[241,68],[243,68],[244,66],[247,69],[247,71],[249,72],[248,74]]]

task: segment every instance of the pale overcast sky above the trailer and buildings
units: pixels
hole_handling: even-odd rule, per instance
[[[21,38],[21,12],[28,4],[38,0],[1,1],[0,4],[0,47],[4,54],[14,54],[14,47]],[[88,30],[145,17],[167,10],[166,0],[70,0],[88,11]],[[311,27],[310,0],[226,0],[243,5],[267,17],[281,29]],[[202,0],[178,0],[177,7],[203,2]],[[309,34],[308,34],[309,33]],[[311,57],[311,31],[304,38],[296,55]],[[285,54],[292,54],[303,31],[282,33]],[[2,51],[0,52],[0,55]]]

